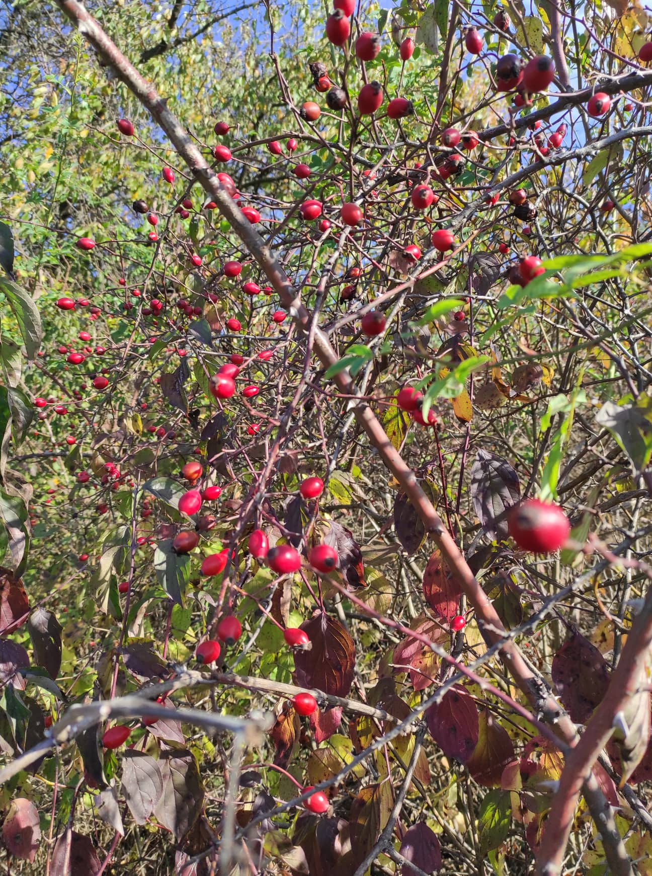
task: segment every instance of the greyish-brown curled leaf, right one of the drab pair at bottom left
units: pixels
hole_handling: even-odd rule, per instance
[[[163,794],[154,811],[158,821],[179,840],[200,816],[204,805],[204,788],[200,768],[192,752],[161,752],[158,766],[163,779]]]

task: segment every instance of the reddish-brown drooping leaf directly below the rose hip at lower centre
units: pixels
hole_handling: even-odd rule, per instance
[[[354,680],[354,640],[339,620],[317,611],[301,629],[312,643],[310,651],[294,655],[295,682],[331,696],[347,696]]]

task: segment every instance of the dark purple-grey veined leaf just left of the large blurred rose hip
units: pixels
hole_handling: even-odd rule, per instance
[[[505,512],[521,500],[514,468],[487,450],[478,450],[471,469],[471,498],[480,525],[490,539],[508,536]]]

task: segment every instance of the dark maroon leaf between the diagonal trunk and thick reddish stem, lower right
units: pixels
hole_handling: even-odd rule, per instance
[[[574,631],[552,659],[552,681],[559,699],[576,724],[585,724],[602,701],[609,670],[598,648]]]

